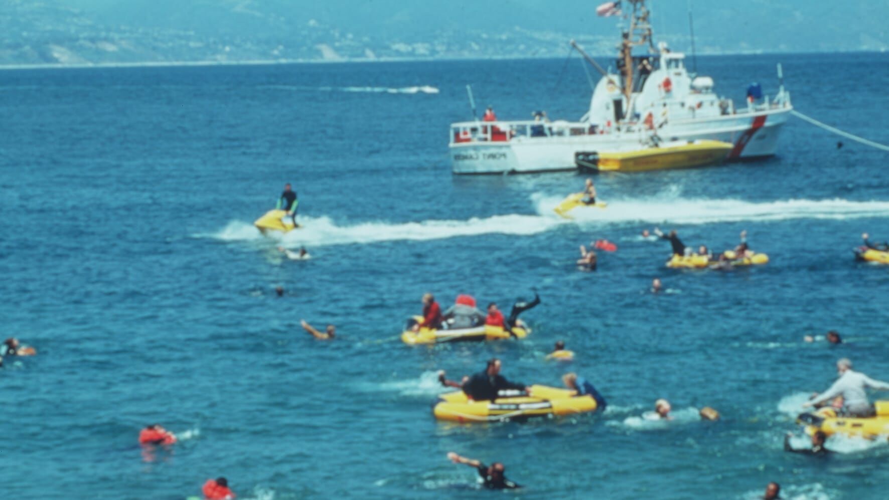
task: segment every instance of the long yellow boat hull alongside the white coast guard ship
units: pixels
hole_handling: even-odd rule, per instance
[[[728,142],[702,139],[637,151],[599,153],[596,170],[641,172],[701,167],[724,161],[733,147]]]

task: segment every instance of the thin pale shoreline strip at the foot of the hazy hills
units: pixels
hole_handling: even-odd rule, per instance
[[[889,52],[885,49],[881,50],[856,50],[856,51],[837,51],[837,52],[784,52],[784,51],[739,51],[739,52],[707,52],[698,53],[697,57],[723,57],[723,56],[757,56],[757,55],[815,55],[815,54],[879,54]],[[613,54],[590,54],[595,58],[613,58]],[[688,55],[688,54],[686,54]],[[0,70],[22,70],[22,69],[88,69],[88,68],[110,68],[110,67],[209,67],[209,66],[276,66],[276,65],[299,65],[299,64],[342,64],[342,63],[376,63],[376,62],[448,62],[461,60],[552,60],[561,59],[553,56],[490,56],[490,57],[380,57],[380,58],[340,58],[340,59],[294,59],[294,60],[194,60],[194,61],[143,61],[143,62],[96,62],[96,63],[77,63],[77,64],[60,64],[60,63],[43,63],[43,64],[4,64],[0,65]]]

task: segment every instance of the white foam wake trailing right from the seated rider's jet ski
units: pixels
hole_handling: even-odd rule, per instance
[[[564,198],[533,196],[535,208],[546,217],[557,217],[553,209]],[[671,222],[708,224],[744,220],[773,221],[797,218],[845,220],[848,218],[889,216],[889,202],[853,202],[832,200],[781,200],[746,202],[734,199],[679,198],[672,195],[641,199],[611,199],[602,209],[577,208],[570,215],[579,222]]]

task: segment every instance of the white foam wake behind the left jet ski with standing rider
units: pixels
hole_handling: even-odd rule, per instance
[[[469,220],[427,220],[396,224],[364,222],[351,226],[338,226],[326,217],[300,217],[300,224],[303,225],[302,228],[283,236],[280,234],[270,235],[280,238],[284,246],[288,248],[299,248],[300,246],[310,248],[349,243],[440,240],[479,234],[529,235],[548,231],[563,224],[563,221],[535,215],[499,215],[489,218],[470,218]],[[259,230],[242,221],[229,222],[218,233],[197,234],[197,236],[211,237],[224,242],[262,238]]]

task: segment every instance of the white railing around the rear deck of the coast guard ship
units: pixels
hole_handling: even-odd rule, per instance
[[[604,133],[597,125],[579,122],[461,122],[451,124],[451,143],[576,137]]]

